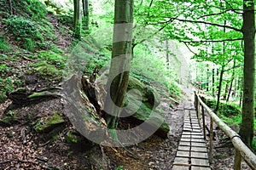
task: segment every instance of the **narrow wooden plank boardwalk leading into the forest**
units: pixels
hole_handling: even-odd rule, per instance
[[[210,170],[207,145],[192,102],[185,102],[183,133],[178,144],[172,170]]]

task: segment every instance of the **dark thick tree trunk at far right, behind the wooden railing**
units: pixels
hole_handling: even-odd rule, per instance
[[[241,116],[241,138],[252,147],[254,122],[254,83],[255,83],[255,16],[254,1],[243,1],[244,67],[243,67],[243,99]]]

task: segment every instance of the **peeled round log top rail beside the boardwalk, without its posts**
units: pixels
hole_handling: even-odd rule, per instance
[[[247,162],[247,165],[252,169],[256,169],[256,156],[252,150],[250,150],[246,144],[241,140],[238,133],[234,132],[228,125],[226,125],[195,93],[195,99],[198,99],[203,108],[207,110],[207,113],[212,117],[218,127],[230,138],[232,144],[236,150],[241,154],[241,157]]]

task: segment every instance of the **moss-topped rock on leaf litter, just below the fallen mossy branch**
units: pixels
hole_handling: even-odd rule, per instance
[[[38,121],[34,126],[35,130],[38,132],[50,132],[55,127],[60,127],[64,123],[64,119],[61,114],[57,111],[53,112],[52,116],[46,118],[45,122]]]

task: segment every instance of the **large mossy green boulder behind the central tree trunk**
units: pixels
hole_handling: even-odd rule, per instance
[[[96,80],[96,82],[101,82],[100,85],[98,84],[98,87],[102,87],[102,84],[105,85],[107,83],[107,75],[108,72],[105,72]],[[99,90],[99,92],[101,91],[103,90]],[[125,116],[126,120],[136,124],[146,122],[149,127],[158,129],[155,134],[162,138],[167,138],[170,127],[166,123],[165,118],[159,114],[157,106],[160,104],[160,97],[156,90],[140,82],[135,77],[129,77],[127,92],[125,109],[122,111],[121,116]],[[97,96],[102,96],[102,94]]]

